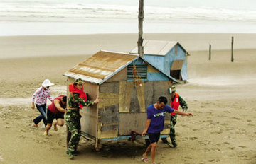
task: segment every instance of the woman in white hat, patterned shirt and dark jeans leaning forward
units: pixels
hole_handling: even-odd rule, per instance
[[[33,119],[35,126],[38,127],[38,123],[43,119],[43,123],[45,126],[47,125],[47,117],[46,117],[46,102],[47,98],[52,102],[53,98],[50,96],[50,86],[53,86],[54,83],[50,83],[49,79],[43,81],[42,86],[36,90],[32,95],[32,109],[35,109],[35,100],[36,100],[36,108],[41,113],[36,119]]]

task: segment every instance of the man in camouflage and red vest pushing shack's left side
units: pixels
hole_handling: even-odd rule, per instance
[[[74,158],[74,153],[77,150],[78,143],[81,136],[81,125],[80,125],[80,107],[97,104],[100,102],[100,98],[96,100],[87,100],[82,97],[86,94],[83,92],[83,81],[81,78],[75,79],[74,83],[69,85],[70,95],[68,98],[68,110],[65,116],[65,122],[67,124],[67,147],[68,157]],[[84,100],[83,100],[84,99]],[[82,105],[82,106],[81,106]]]

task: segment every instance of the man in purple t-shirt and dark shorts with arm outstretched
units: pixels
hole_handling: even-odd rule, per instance
[[[193,116],[192,113],[174,110],[166,104],[167,98],[161,96],[155,104],[149,105],[149,107],[146,109],[146,126],[142,132],[142,136],[145,136],[146,133],[148,133],[150,145],[146,148],[145,153],[142,155],[142,160],[144,162],[148,162],[148,158],[146,158],[146,156],[149,152],[151,152],[152,163],[155,163],[156,144],[159,140],[160,132],[164,129],[164,116],[166,115],[166,112],[174,112],[178,115]]]

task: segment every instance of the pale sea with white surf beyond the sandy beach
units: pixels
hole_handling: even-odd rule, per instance
[[[139,0],[0,0],[0,35],[138,33]],[[256,33],[254,0],[144,0],[144,33]]]

